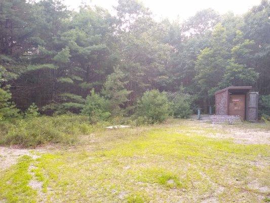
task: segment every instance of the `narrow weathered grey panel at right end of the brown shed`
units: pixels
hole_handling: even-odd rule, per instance
[[[255,122],[258,119],[258,101],[259,101],[259,92],[249,92],[247,94],[246,119],[248,121]]]

